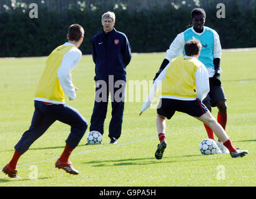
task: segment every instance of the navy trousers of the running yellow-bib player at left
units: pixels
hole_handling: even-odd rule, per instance
[[[67,104],[44,104],[42,101],[34,101],[34,107],[31,126],[14,147],[19,154],[24,154],[56,120],[71,126],[71,133],[66,140],[67,146],[74,149],[79,144],[88,126],[79,111]]]

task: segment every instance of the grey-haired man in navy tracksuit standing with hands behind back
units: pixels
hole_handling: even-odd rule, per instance
[[[102,15],[103,30],[92,37],[92,58],[96,64],[94,80],[96,97],[91,117],[90,131],[104,133],[104,120],[111,93],[112,118],[109,124],[111,144],[121,136],[124,113],[126,67],[131,59],[130,44],[125,34],[114,29],[116,16],[113,12]]]

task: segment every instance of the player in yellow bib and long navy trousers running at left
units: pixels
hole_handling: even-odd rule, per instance
[[[70,100],[76,98],[77,88],[72,84],[72,72],[81,59],[78,49],[84,39],[84,29],[79,24],[69,27],[68,42],[52,51],[46,61],[46,67],[36,88],[34,97],[34,115],[31,126],[24,132],[14,147],[15,152],[11,161],[2,172],[11,178],[17,177],[16,165],[19,157],[26,152],[57,120],[71,126],[71,133],[66,139],[66,147],[57,159],[56,167],[64,169],[69,174],[79,174],[69,162],[69,155],[79,144],[87,129],[86,119],[77,111],[65,104],[64,95]]]

